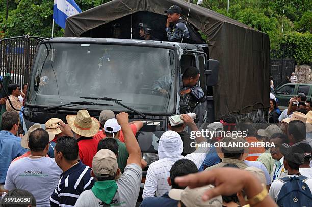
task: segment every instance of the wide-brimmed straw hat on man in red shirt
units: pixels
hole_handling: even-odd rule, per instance
[[[71,130],[83,137],[92,137],[99,131],[99,121],[91,117],[87,110],[79,110],[77,115],[67,115]]]

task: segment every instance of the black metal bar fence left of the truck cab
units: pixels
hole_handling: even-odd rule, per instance
[[[0,74],[11,74],[12,83],[28,83],[37,45],[40,41],[29,36],[3,39],[0,42]]]

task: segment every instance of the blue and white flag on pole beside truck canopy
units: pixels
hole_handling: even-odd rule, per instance
[[[81,12],[79,6],[74,0],[54,0],[53,5],[53,19],[65,29],[67,17],[78,14]]]

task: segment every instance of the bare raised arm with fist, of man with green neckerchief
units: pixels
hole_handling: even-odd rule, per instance
[[[129,126],[128,116],[129,116],[128,113],[125,113],[125,112],[121,112],[116,116],[116,119],[119,125],[121,126],[121,129],[124,135],[124,143],[129,153],[127,165],[131,163],[135,163],[141,166],[141,149],[140,149],[139,143],[136,140],[136,137],[132,133],[132,130]]]

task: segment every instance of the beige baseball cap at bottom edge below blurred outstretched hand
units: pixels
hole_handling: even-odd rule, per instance
[[[186,187],[185,189],[171,189],[168,195],[173,200],[182,201],[187,207],[222,207],[221,195],[207,201],[202,200],[204,192],[212,188],[214,188],[213,185],[193,189],[190,189],[189,187]]]

